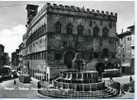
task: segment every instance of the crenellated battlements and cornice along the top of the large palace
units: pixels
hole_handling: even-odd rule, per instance
[[[42,9],[36,14],[36,16],[32,19],[32,21],[29,24],[29,29],[34,25],[34,23],[37,22],[37,20],[41,17],[41,15],[44,15],[48,12],[56,12],[61,14],[74,14],[79,16],[95,16],[96,18],[101,17],[101,19],[111,19],[116,21],[117,20],[117,13],[108,12],[108,11],[100,11],[95,9],[85,9],[84,7],[76,7],[76,6],[68,6],[68,5],[62,5],[62,4],[51,4],[46,3]],[[77,13],[76,13],[77,12]]]

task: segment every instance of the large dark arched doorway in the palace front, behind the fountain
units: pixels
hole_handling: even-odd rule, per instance
[[[75,52],[73,50],[66,51],[64,54],[64,64],[67,65],[68,68],[72,68],[72,60],[75,56]]]

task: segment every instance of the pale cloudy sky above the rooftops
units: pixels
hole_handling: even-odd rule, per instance
[[[39,9],[48,1],[0,1],[0,44],[5,46],[9,56],[22,42],[26,32],[26,4],[39,5]],[[134,1],[49,1],[51,3],[74,5],[78,7],[104,10],[118,13],[117,33],[135,24]]]

